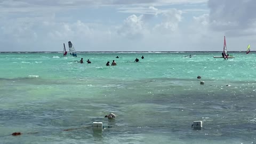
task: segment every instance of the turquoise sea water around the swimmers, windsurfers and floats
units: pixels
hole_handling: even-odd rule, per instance
[[[255,53],[77,55],[0,53],[0,143],[256,142]],[[117,66],[105,66],[112,60]],[[93,122],[111,127],[63,131]]]

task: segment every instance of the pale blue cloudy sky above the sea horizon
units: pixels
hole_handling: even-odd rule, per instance
[[[0,0],[0,51],[256,47],[255,0]]]

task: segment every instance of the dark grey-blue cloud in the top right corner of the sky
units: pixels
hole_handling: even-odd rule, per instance
[[[213,30],[226,31],[231,36],[255,31],[256,1],[209,0],[210,24]],[[250,32],[251,33],[251,32]]]

